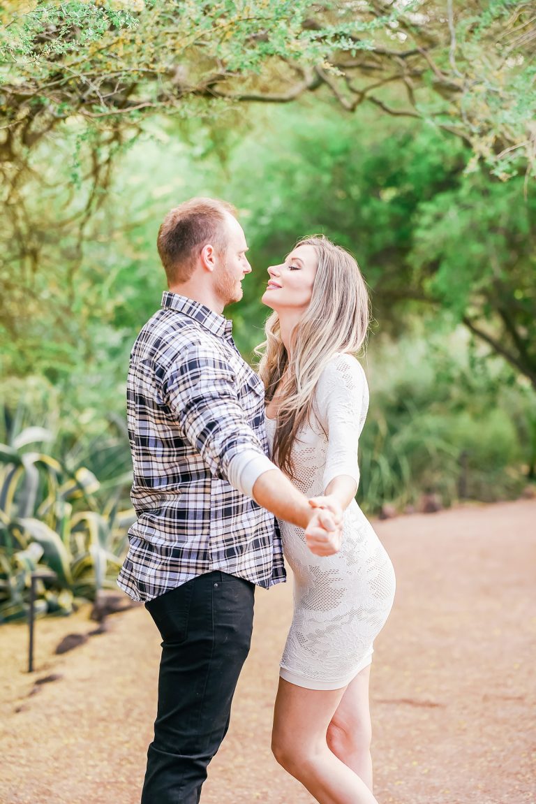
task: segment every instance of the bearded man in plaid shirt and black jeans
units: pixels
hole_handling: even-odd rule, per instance
[[[137,522],[118,584],[162,635],[142,804],[199,801],[248,654],[255,586],[284,580],[272,514],[303,527],[319,555],[340,539],[338,512],[313,510],[267,457],[264,388],[222,315],[242,297],[247,251],[229,204],[171,210],[158,232],[169,292],[130,359]]]

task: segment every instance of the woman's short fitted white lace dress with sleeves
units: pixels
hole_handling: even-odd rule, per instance
[[[295,485],[307,497],[324,494],[340,474],[359,482],[358,438],[368,403],[361,364],[336,355],[317,384],[315,420],[293,447]],[[275,421],[268,418],[267,432],[272,445]],[[370,664],[374,638],[391,611],[391,560],[355,500],[345,511],[342,549],[334,556],[314,556],[301,528],[280,521],[280,529],[294,576],[294,615],[280,675],[314,690],[345,687]]]

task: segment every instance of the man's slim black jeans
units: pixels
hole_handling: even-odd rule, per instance
[[[248,655],[254,593],[248,580],[209,572],[145,603],[163,642],[141,804],[198,804]]]

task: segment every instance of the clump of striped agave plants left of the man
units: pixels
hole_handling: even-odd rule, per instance
[[[51,441],[47,429],[28,427],[0,445],[0,622],[26,617],[31,572],[55,573],[38,583],[38,613],[70,613],[76,598],[114,585],[125,552],[134,519],[121,508],[129,474],[114,478],[108,464],[100,483],[86,466],[72,466],[73,454],[44,452]],[[112,445],[105,443],[108,456]],[[124,464],[119,455],[116,466]]]

